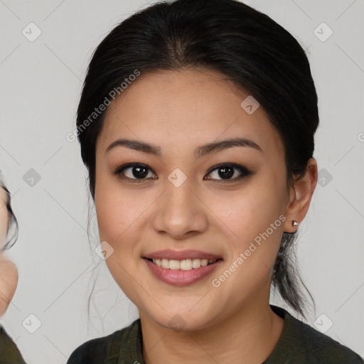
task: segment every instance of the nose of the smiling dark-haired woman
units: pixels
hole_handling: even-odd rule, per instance
[[[165,191],[156,200],[152,226],[158,233],[168,234],[176,240],[183,240],[208,227],[208,208],[202,199],[185,181],[174,186],[166,180]]]

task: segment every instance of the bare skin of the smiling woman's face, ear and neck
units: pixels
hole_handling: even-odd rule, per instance
[[[304,178],[287,186],[282,139],[262,107],[253,114],[240,107],[247,95],[210,70],[149,73],[107,112],[96,146],[100,241],[114,249],[107,266],[139,309],[147,364],[225,364],[241,358],[262,363],[282,333],[283,320],[269,307],[271,270],[283,232],[296,230],[291,220],[301,222],[306,215],[317,166],[310,159]],[[232,137],[255,141],[262,151],[234,146],[198,159],[193,154],[198,146]],[[159,146],[161,156],[125,146],[105,154],[120,138]],[[124,179],[113,174],[132,162],[151,168],[147,179],[133,182],[132,168],[124,171]],[[208,173],[228,162],[253,173],[230,183],[218,170]],[[175,168],[187,177],[178,188],[168,181]],[[232,179],[239,175],[235,170]],[[213,287],[212,279],[279,215],[287,220],[220,287]],[[202,250],[223,257],[223,264],[199,282],[174,287],[156,279],[141,258],[162,249]],[[182,331],[168,323],[176,315],[183,318]]]

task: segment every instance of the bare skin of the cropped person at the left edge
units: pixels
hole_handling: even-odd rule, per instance
[[[6,210],[6,192],[0,187],[0,247],[6,242],[9,213]],[[18,284],[16,265],[0,252],[0,317],[3,316],[14,296]]]

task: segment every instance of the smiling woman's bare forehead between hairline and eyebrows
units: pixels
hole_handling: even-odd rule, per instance
[[[212,70],[141,74],[110,105],[97,149],[117,138],[150,141],[163,149],[196,147],[232,137],[282,153],[282,140],[262,107],[241,106],[249,92]]]

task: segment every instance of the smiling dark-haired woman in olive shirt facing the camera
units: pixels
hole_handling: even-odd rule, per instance
[[[309,62],[233,0],[139,11],[100,43],[77,110],[101,250],[140,319],[73,363],[363,363],[304,316],[291,252],[316,187]]]

